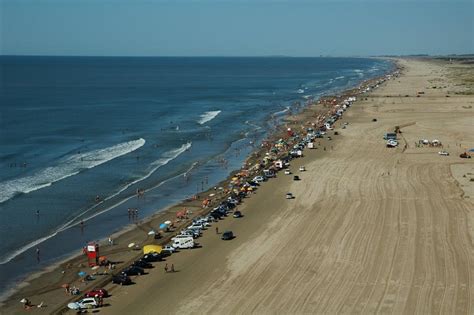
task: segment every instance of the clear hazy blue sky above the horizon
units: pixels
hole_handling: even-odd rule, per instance
[[[474,0],[0,0],[2,55],[474,53]]]

